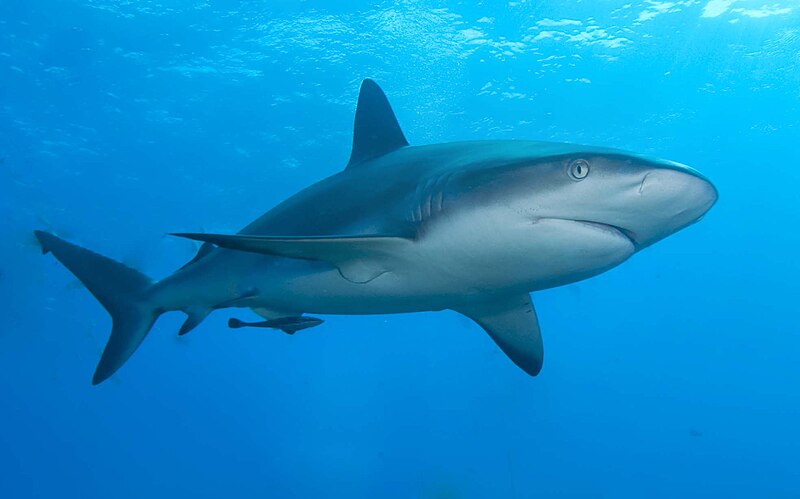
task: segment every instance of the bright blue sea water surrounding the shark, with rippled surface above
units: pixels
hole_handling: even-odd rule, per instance
[[[0,496],[800,497],[800,3],[332,3],[0,2]],[[364,77],[413,144],[618,147],[720,201],[535,293],[536,378],[452,312],[218,312],[93,387],[110,319],[31,231],[166,276],[166,233],[344,166]]]

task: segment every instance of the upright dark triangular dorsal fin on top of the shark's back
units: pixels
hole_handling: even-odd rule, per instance
[[[347,168],[407,146],[389,100],[377,83],[366,79],[358,94],[353,126],[353,152]]]

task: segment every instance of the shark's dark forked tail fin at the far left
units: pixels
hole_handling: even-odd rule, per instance
[[[42,253],[53,253],[111,315],[111,337],[97,365],[92,384],[108,379],[133,355],[161,311],[148,301],[153,284],[144,274],[110,258],[35,231]]]

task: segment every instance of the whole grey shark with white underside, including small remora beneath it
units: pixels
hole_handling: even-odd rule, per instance
[[[523,371],[542,368],[530,292],[605,272],[699,220],[717,191],[695,170],[615,149],[533,141],[410,146],[364,80],[347,167],[233,235],[183,233],[197,256],[161,281],[36,231],[105,307],[111,336],[93,382],[114,374],[168,311],[250,308],[294,333],[303,314],[450,309]]]

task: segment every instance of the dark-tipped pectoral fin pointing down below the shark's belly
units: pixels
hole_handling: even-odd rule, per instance
[[[530,295],[493,298],[456,311],[477,322],[523,371],[539,374],[544,348]]]

